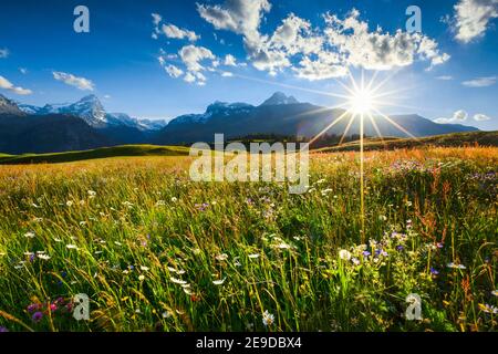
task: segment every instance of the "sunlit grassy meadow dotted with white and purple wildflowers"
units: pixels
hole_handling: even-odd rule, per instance
[[[190,162],[0,166],[0,329],[498,330],[498,148],[365,153],[363,236],[357,153],[313,154],[304,195]]]

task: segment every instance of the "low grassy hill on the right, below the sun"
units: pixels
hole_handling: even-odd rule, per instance
[[[498,146],[498,131],[495,132],[470,132],[470,133],[454,133],[445,135],[435,135],[422,138],[395,138],[378,137],[365,138],[365,150],[380,150],[380,149],[398,149],[398,148],[414,148],[421,146],[443,146],[443,147],[457,147],[457,146]],[[356,150],[360,147],[360,140],[342,144],[341,146],[330,146],[318,149],[320,153],[332,152],[347,152]]]

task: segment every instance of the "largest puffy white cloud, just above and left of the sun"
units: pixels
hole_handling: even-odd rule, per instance
[[[270,9],[267,0],[197,4],[201,18],[215,29],[241,34],[252,65],[271,75],[291,67],[298,77],[323,80],[343,76],[347,66],[391,70],[425,60],[430,70],[449,60],[435,40],[421,33],[370,30],[355,9],[343,19],[324,14],[322,29],[313,29],[309,21],[290,13],[272,33],[263,34],[260,23]]]

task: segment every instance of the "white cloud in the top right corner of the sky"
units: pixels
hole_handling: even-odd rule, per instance
[[[498,18],[498,0],[460,0],[454,8],[455,38],[463,43],[481,38]]]

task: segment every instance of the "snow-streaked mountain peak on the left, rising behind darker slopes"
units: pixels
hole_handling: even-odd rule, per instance
[[[46,104],[43,107],[19,104],[19,108],[28,114],[69,114],[74,115],[94,128],[129,127],[142,132],[157,131],[166,125],[165,121],[137,119],[125,113],[107,113],[95,95],[87,95],[75,103]]]

